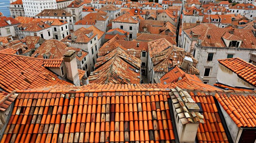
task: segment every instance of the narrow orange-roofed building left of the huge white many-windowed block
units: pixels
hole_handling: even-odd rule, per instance
[[[10,3],[9,9],[12,18],[16,18],[17,16],[25,16],[22,0],[16,0]]]

